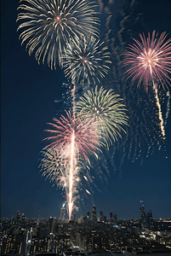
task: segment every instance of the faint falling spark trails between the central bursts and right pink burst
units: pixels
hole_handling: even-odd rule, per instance
[[[142,86],[140,90],[137,90],[136,86],[134,87],[128,81],[126,82],[123,75],[125,70],[121,68],[123,55],[125,53],[125,46],[129,44],[128,38],[135,38],[137,36],[137,32],[131,29],[133,26],[132,24],[134,23],[136,24],[136,27],[140,27],[140,31],[143,30],[143,25],[141,22],[143,15],[141,15],[141,17],[140,15],[137,15],[137,9],[135,6],[134,8],[132,6],[133,2],[134,1],[132,1],[130,4],[130,13],[127,16],[120,15],[118,18],[121,20],[121,28],[119,28],[119,30],[112,22],[105,23],[105,27],[107,29],[107,32],[105,33],[105,40],[109,42],[108,45],[111,51],[112,61],[111,72],[109,72],[110,79],[108,79],[105,83],[105,87],[107,89],[114,89],[117,94],[122,96],[123,103],[127,106],[129,115],[129,127],[126,127],[127,133],[123,135],[122,140],[114,143],[110,148],[110,152],[112,151],[111,164],[112,166],[116,166],[117,170],[120,163],[117,154],[123,155],[124,152],[126,152],[126,159],[129,160],[136,160],[137,157],[139,157],[142,164],[143,160],[148,156],[148,154],[153,154],[154,150],[156,150],[155,148],[159,149],[164,143],[162,139],[162,131],[160,129],[161,120],[158,119],[157,115],[158,109],[155,91],[152,90],[151,84],[148,88],[148,93],[145,93]],[[107,7],[111,9],[111,3]],[[103,11],[105,12],[105,9]],[[115,20],[114,14],[110,15],[110,20]],[[115,32],[113,32],[114,26]],[[135,65],[135,70],[136,69],[138,69],[138,65]],[[165,79],[163,75],[162,78]],[[164,86],[162,87],[159,79],[155,79],[155,82],[157,82],[158,98],[162,108],[162,116],[165,127],[167,124],[166,111],[169,111],[169,103],[167,104],[167,109],[165,106],[165,99],[168,101],[168,92],[166,96],[166,90],[164,90]],[[137,147],[135,149],[136,142]]]

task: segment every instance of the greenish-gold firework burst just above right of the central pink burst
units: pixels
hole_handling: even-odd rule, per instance
[[[77,102],[76,111],[82,114],[83,119],[94,119],[96,129],[104,143],[109,143],[121,137],[123,126],[128,125],[125,105],[121,103],[122,98],[113,90],[104,90],[103,87],[95,87],[95,90],[88,90]]]

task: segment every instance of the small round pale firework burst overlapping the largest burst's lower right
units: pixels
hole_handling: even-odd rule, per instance
[[[100,83],[108,73],[110,53],[104,42],[94,37],[83,37],[79,41],[71,38],[63,55],[66,77],[74,84]]]

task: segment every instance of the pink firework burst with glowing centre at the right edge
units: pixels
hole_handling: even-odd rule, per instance
[[[148,33],[148,38],[145,34],[140,34],[141,42],[134,39],[135,44],[128,45],[128,51],[123,61],[123,67],[129,66],[125,72],[128,78],[132,77],[132,82],[138,79],[138,86],[143,81],[145,90],[148,90],[148,84],[152,80],[153,86],[154,79],[159,79],[161,84],[168,84],[171,73],[171,38],[166,40],[166,32],[162,32],[159,38],[155,35],[155,31]],[[164,81],[163,81],[164,79]]]

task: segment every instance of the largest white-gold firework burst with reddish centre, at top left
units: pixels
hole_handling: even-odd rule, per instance
[[[97,35],[100,23],[95,11],[96,5],[86,0],[20,0],[18,9],[24,11],[17,17],[24,20],[18,30],[21,44],[27,41],[29,55],[36,51],[36,59],[40,63],[45,60],[53,69],[56,58],[61,65],[60,55],[69,38],[80,38],[84,34]]]

